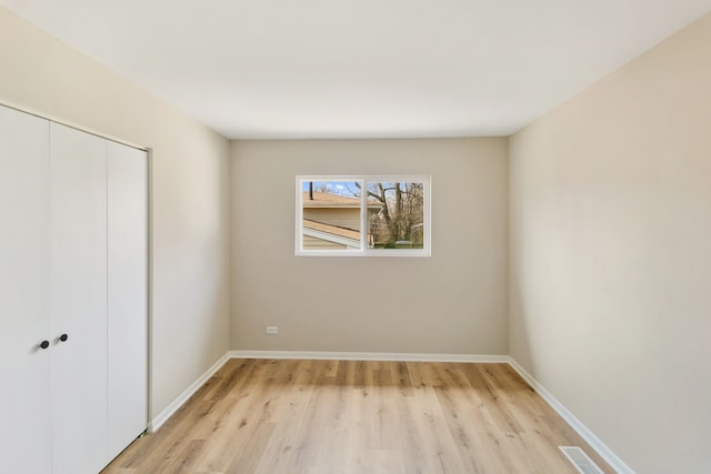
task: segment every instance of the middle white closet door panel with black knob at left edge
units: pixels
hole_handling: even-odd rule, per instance
[[[107,462],[107,144],[50,131],[53,474],[96,474]]]

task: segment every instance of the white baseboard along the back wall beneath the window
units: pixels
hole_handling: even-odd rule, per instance
[[[508,355],[413,354],[402,352],[230,351],[231,359],[293,359],[332,361],[508,363]]]

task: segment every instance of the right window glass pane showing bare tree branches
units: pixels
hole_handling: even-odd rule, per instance
[[[368,182],[368,246],[424,248],[424,183]]]

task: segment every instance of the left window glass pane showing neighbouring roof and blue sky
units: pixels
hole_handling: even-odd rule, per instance
[[[361,249],[361,183],[301,182],[302,250]]]

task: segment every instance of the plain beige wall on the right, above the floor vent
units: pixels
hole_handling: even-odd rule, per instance
[[[637,472],[709,472],[711,16],[510,159],[511,355]]]

